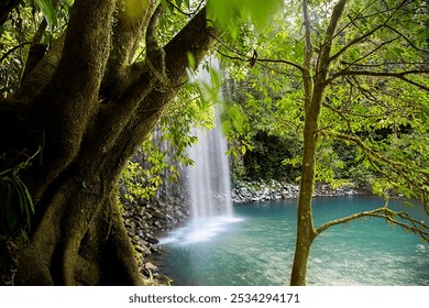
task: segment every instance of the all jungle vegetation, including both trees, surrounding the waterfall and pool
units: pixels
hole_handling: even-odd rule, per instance
[[[429,215],[426,1],[6,0],[0,8],[0,241],[16,256],[16,284],[141,285],[119,178],[144,144],[155,167],[143,193],[160,185],[168,165],[147,142],[156,123],[177,160],[191,163],[190,128],[210,125],[221,88],[231,156],[250,157],[268,138],[288,147],[275,164],[300,184],[292,285],[306,284],[311,244],[331,226],[375,217],[428,240],[425,222],[388,207],[391,196],[405,196]],[[196,81],[198,67],[210,86]],[[315,183],[344,185],[362,174],[386,202],[315,226]]]

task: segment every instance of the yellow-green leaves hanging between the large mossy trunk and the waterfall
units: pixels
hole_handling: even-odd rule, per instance
[[[186,148],[197,142],[191,129],[211,128],[213,114],[213,106],[201,103],[201,97],[193,85],[185,86],[164,110],[152,138],[143,143],[138,157],[128,162],[121,177],[125,199],[131,202],[147,201],[166,180],[178,180],[182,168],[194,163],[186,153]]]

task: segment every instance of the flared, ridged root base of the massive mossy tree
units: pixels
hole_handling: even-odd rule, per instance
[[[113,202],[66,185],[19,256],[18,285],[143,285]]]

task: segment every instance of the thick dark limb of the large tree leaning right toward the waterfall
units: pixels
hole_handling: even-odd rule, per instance
[[[196,63],[199,63],[211,47],[216,34],[216,30],[207,28],[206,11],[202,9],[164,46],[166,53],[165,72],[168,74],[169,80],[174,80],[176,85],[163,85],[156,76],[151,74],[152,69],[147,67],[146,62],[136,63],[132,66],[135,69],[143,70],[140,77],[146,79],[133,82],[133,87],[127,89],[125,96],[122,98],[123,101],[119,103],[120,106],[130,105],[128,98],[133,100],[133,109],[129,109],[129,117],[121,122],[121,127],[117,130],[118,135],[109,144],[111,148],[109,147],[106,153],[110,154],[103,154],[109,172],[114,176],[124,166],[123,157],[131,157],[158,120],[164,106],[174,99],[180,89],[182,82],[186,80],[186,68],[189,66],[187,54],[191,53]],[[148,82],[152,82],[151,87],[148,87]],[[120,108],[120,106],[117,108]],[[116,117],[118,111],[112,108],[109,114]],[[107,117],[107,119],[109,120],[111,117]],[[111,125],[111,122],[109,122],[109,125]],[[117,129],[114,125],[112,128]]]

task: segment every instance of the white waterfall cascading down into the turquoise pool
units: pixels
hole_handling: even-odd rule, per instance
[[[209,241],[230,223],[241,221],[233,217],[226,139],[219,128],[195,130],[194,133],[198,142],[188,148],[194,165],[186,170],[190,221],[161,239],[162,244]]]

